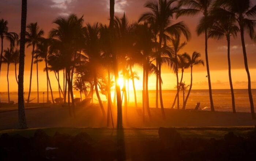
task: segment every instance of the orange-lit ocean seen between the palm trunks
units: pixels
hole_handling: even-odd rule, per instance
[[[234,89],[235,92],[235,101],[236,101],[236,109],[237,112],[250,112],[250,104],[249,104],[249,98],[248,98],[248,90],[247,89]],[[256,89],[252,89],[253,93],[253,100],[256,105]],[[136,91],[137,95],[137,102],[138,105],[142,105],[142,91]],[[176,95],[176,90],[163,90],[163,106],[165,108],[170,108],[173,104],[174,97]],[[187,95],[187,92],[185,93],[185,96]],[[25,100],[27,99],[28,92],[25,92]],[[214,107],[216,111],[232,111],[232,105],[231,105],[231,94],[229,89],[213,89],[212,90],[212,96],[214,100]],[[54,91],[53,97],[57,98],[59,97],[59,92]],[[74,97],[80,98],[80,93],[78,91],[74,91]],[[112,100],[114,100],[114,91],[112,91]],[[7,102],[8,101],[8,95],[7,92],[1,92],[0,93],[1,102]],[[82,98],[84,99],[84,95],[82,93]],[[155,107],[155,91],[149,91],[149,102],[150,107]],[[30,99],[34,99],[33,103],[37,102],[37,92],[31,92]],[[51,100],[50,92],[49,92],[49,99]],[[101,99],[103,102],[106,102],[106,97],[101,95]],[[18,102],[18,92],[11,92],[10,93],[10,100],[14,101],[15,103]],[[43,103],[46,102],[46,92],[43,94],[43,92],[39,92],[39,102]],[[200,102],[200,107],[203,110],[210,110],[210,99],[209,99],[209,92],[208,90],[192,90],[190,97],[187,102],[188,109],[193,109],[196,106],[196,103]],[[94,103],[97,103],[97,97],[94,94]],[[158,101],[160,104],[160,101]],[[182,108],[183,103],[183,96],[182,92],[180,92],[180,108]],[[129,91],[129,106],[134,106],[134,94],[133,91]],[[160,105],[159,105],[160,107]],[[177,107],[177,103],[176,103]],[[175,108],[176,108],[175,107]]]

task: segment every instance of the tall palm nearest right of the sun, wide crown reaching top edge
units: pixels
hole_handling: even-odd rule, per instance
[[[166,41],[169,36],[178,36],[181,33],[189,39],[191,34],[188,30],[188,27],[184,22],[178,22],[172,24],[172,19],[174,14],[177,12],[177,8],[173,7],[173,0],[158,0],[157,1],[148,1],[144,5],[146,8],[149,8],[151,11],[144,13],[139,18],[139,22],[147,21],[148,23],[154,22],[154,26],[157,28],[158,35],[158,54],[157,54],[157,65],[158,65],[158,79],[159,79],[159,98],[161,104],[162,117],[165,119],[165,112],[163,108],[163,99],[162,99],[162,81],[161,81],[161,57],[163,54],[163,47],[166,47]]]

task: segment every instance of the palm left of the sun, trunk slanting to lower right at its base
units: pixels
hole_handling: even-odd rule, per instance
[[[100,60],[101,60],[101,50],[99,49],[99,24],[95,23],[94,25],[87,24],[86,25],[86,32],[85,32],[85,53],[89,57],[89,63],[90,63],[90,69],[93,70],[94,74],[94,87],[95,87],[95,92],[98,97],[99,105],[101,107],[101,111],[103,114],[103,117],[105,117],[105,110],[101,101],[101,97],[99,96],[99,90],[98,90],[98,68],[101,65]]]

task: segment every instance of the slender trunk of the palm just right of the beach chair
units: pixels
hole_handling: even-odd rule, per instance
[[[210,94],[210,103],[211,103],[211,111],[214,112],[214,105],[212,99],[212,90],[211,90],[211,77],[210,77],[210,67],[208,61],[208,35],[207,30],[205,32],[205,58],[206,58],[206,67],[207,67],[207,77],[208,77],[208,85],[209,85],[209,94]]]

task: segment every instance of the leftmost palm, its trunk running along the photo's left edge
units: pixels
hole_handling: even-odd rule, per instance
[[[4,19],[0,19],[0,37],[1,37],[1,55],[0,55],[0,73],[2,66],[2,57],[3,57],[3,49],[4,49],[4,39],[10,41],[10,45],[14,46],[15,41],[18,40],[18,34],[15,32],[8,32],[8,21]]]

